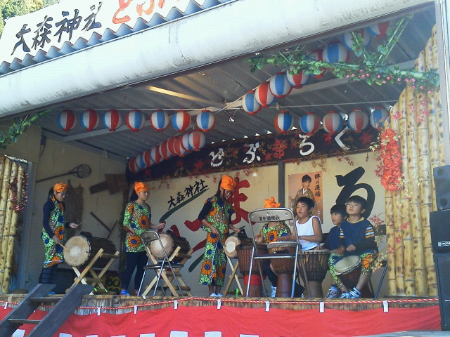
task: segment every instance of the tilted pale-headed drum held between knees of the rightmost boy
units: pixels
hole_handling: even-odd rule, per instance
[[[335,272],[341,282],[347,286],[347,289],[352,290],[358,284],[361,267],[361,258],[359,256],[345,256],[345,258],[342,258],[335,264]],[[361,289],[361,297],[373,298],[373,293],[367,284]]]

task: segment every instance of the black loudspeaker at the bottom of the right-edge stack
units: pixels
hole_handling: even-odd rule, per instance
[[[450,254],[435,254],[441,329],[450,330]]]

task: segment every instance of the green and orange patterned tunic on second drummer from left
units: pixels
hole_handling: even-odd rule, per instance
[[[125,249],[127,252],[139,253],[146,250],[139,235],[148,230],[150,218],[151,215],[147,204],[141,205],[136,201],[131,201],[127,204],[123,225],[134,230],[134,234],[127,232],[127,237],[125,238]]]

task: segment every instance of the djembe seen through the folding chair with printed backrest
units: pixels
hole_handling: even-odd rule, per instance
[[[269,254],[293,255],[297,242],[270,242],[267,244]],[[276,297],[290,297],[293,289],[295,258],[271,258],[271,265],[278,275],[276,281]]]

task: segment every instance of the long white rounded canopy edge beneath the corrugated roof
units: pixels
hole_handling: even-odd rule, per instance
[[[163,77],[431,0],[238,0],[0,77],[0,117]]]

